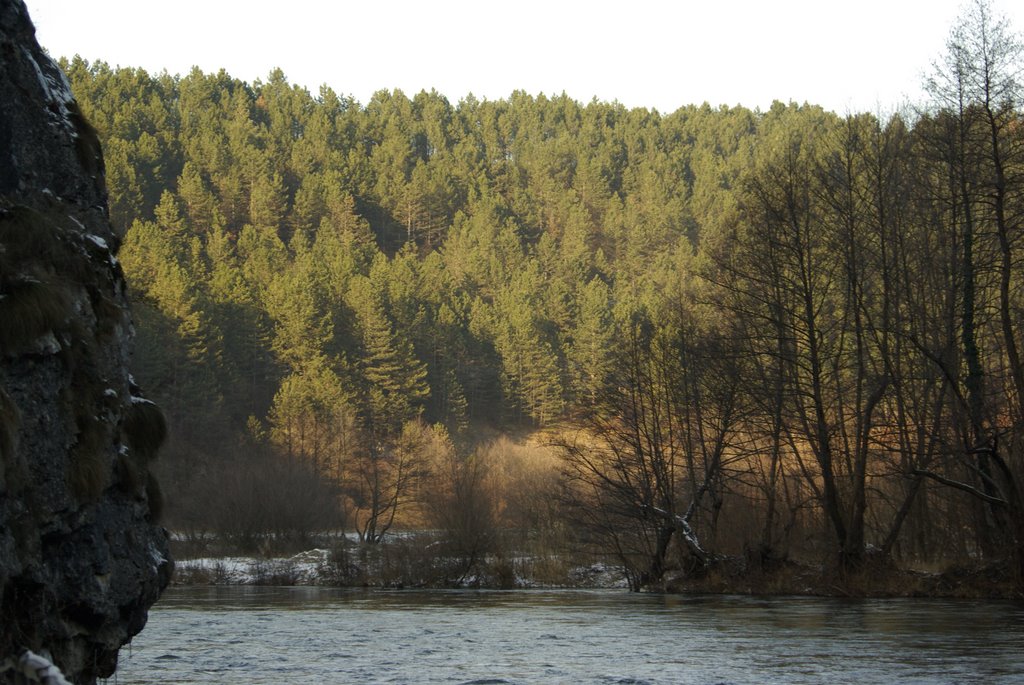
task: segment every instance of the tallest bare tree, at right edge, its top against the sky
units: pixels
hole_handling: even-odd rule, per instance
[[[984,522],[979,529],[983,548],[996,555],[1009,544],[1017,572],[1024,576],[1024,458],[1020,454],[1024,367],[1017,256],[1024,201],[1020,134],[1024,47],[986,0],[976,0],[967,8],[946,47],[928,86],[937,106],[932,121],[946,123],[946,134],[932,138],[933,149],[944,153],[940,159],[955,180],[951,218],[962,245],[959,351],[967,374],[962,380],[955,368],[944,366],[943,370],[950,391],[969,418],[956,460],[968,478],[936,470],[922,473],[983,504]],[[979,281],[979,273],[986,272],[994,274],[994,283]],[[997,312],[991,337],[982,330],[987,322],[977,316],[984,306]],[[982,349],[982,340],[998,344],[988,343]],[[941,358],[932,356],[942,365]]]

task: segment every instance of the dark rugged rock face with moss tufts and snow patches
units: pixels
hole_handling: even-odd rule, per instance
[[[32,679],[26,650],[110,676],[172,569],[102,169],[22,0],[0,0],[0,683]]]

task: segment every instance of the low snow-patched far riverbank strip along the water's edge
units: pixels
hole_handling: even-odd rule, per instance
[[[459,572],[461,564],[431,564],[402,559],[394,549],[367,551],[364,566],[349,555],[311,549],[283,557],[199,557],[179,560],[172,583],[178,586],[312,586],[479,589],[622,589],[629,584],[621,568],[604,562],[564,565],[548,560],[490,559]],[[453,570],[453,568],[455,570]],[[544,572],[535,572],[543,569]],[[850,598],[949,598],[1024,600],[1024,592],[1000,565],[952,567],[937,571],[865,564],[856,573],[839,574],[821,566],[776,562],[751,570],[735,561],[715,565],[703,576],[675,575],[648,591],[691,595],[814,596]]]

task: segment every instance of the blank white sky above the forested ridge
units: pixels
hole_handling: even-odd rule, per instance
[[[772,100],[889,112],[921,99],[961,0],[27,0],[53,56],[249,81],[280,67],[366,104],[567,93],[673,112]],[[1015,30],[1024,2],[994,0]],[[1017,5],[1016,7],[1014,5]]]

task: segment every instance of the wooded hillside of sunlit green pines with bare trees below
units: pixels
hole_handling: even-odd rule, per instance
[[[63,61],[167,526],[424,530],[449,581],[588,553],[635,589],[725,560],[1022,587],[1021,45],[977,3],[887,115]]]

